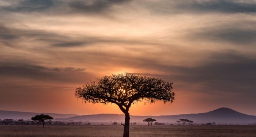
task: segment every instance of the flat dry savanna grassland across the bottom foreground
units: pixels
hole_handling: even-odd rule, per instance
[[[0,126],[0,137],[122,137],[121,125]],[[130,137],[256,137],[256,126],[131,125]]]

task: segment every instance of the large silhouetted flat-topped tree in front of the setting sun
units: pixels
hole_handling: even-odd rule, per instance
[[[123,137],[129,137],[131,104],[143,100],[162,100],[164,103],[173,102],[174,92],[172,84],[152,77],[135,73],[124,73],[111,76],[103,76],[95,81],[76,88],[76,98],[91,103],[113,103],[125,114]]]

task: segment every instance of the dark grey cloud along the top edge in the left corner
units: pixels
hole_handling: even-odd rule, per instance
[[[22,0],[1,6],[7,12],[47,12],[49,14],[103,13],[111,10],[112,5],[129,0]]]

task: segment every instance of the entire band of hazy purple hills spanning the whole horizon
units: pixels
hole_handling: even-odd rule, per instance
[[[56,113],[31,113],[31,112],[19,112],[19,111],[4,111],[0,110],[0,119],[30,119],[34,115],[48,114],[54,117],[54,121],[90,121],[90,122],[123,122],[124,115],[122,114],[94,114],[94,115],[76,115],[76,114],[56,114]],[[247,115],[229,108],[219,108],[206,113],[197,114],[181,114],[181,115],[160,115],[160,116],[136,116],[131,115],[130,121],[143,123],[145,118],[157,119],[157,122],[169,122],[176,123],[178,119],[189,119],[194,123],[207,123],[215,122],[217,124],[243,124],[255,123],[256,116]]]

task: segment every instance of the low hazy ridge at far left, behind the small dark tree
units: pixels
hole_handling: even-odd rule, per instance
[[[19,111],[5,111],[0,110],[0,119],[30,119],[31,117],[39,114],[46,114],[50,115],[53,118],[69,118],[69,117],[75,117],[76,114],[57,114],[57,113],[33,113],[33,112],[19,112]]]

